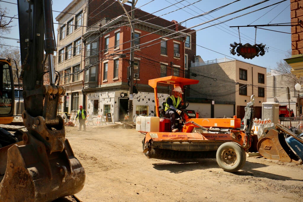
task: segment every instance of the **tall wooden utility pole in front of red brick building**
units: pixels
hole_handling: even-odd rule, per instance
[[[129,55],[129,100],[128,100],[128,121],[133,120],[133,86],[134,86],[134,45],[135,45],[135,24],[133,20],[135,18],[135,0],[132,0],[132,12],[131,12],[131,52]]]

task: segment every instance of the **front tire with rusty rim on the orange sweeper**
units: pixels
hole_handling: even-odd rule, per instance
[[[236,172],[240,170],[246,161],[244,149],[235,142],[225,142],[221,144],[216,153],[219,167],[226,172]]]

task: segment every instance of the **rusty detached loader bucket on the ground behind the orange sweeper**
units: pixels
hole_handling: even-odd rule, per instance
[[[291,162],[295,154],[285,141],[285,133],[279,129],[276,125],[264,131],[257,144],[258,152],[267,159]]]

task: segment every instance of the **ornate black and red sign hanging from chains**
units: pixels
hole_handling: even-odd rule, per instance
[[[234,42],[233,44],[230,44],[232,48],[230,48],[230,53],[232,55],[236,55],[238,53],[238,56],[242,56],[243,58],[252,59],[255,56],[259,57],[259,55],[263,56],[265,54],[265,51],[268,50],[268,48],[265,48],[265,45],[261,44],[255,44],[250,45],[249,43],[242,45],[241,43]]]

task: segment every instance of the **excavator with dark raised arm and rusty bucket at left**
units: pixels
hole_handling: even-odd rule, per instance
[[[0,201],[52,201],[73,195],[84,186],[84,168],[65,139],[64,122],[56,113],[65,89],[57,85],[60,78],[55,78],[51,2],[18,0],[26,128],[21,136],[0,128]],[[0,121],[9,124],[14,107],[9,59],[0,58],[0,71]],[[45,74],[49,75],[48,85],[43,80]]]

